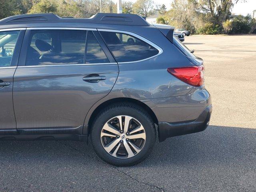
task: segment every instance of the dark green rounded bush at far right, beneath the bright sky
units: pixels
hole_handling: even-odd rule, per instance
[[[251,29],[251,26],[250,26],[251,20],[252,18],[250,16],[244,17],[242,15],[239,15],[235,17],[232,22],[231,33],[233,34],[249,33]]]

